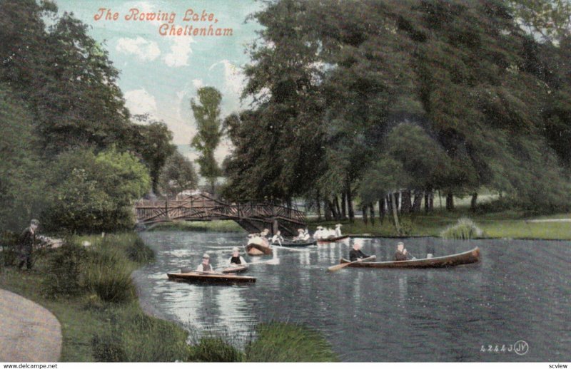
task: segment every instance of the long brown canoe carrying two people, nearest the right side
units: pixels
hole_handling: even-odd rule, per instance
[[[480,249],[477,247],[460,254],[440,256],[430,259],[413,259],[403,261],[375,261],[373,263],[353,263],[350,268],[444,268],[460,264],[472,264],[480,261]],[[340,264],[348,263],[347,259],[341,259]]]

